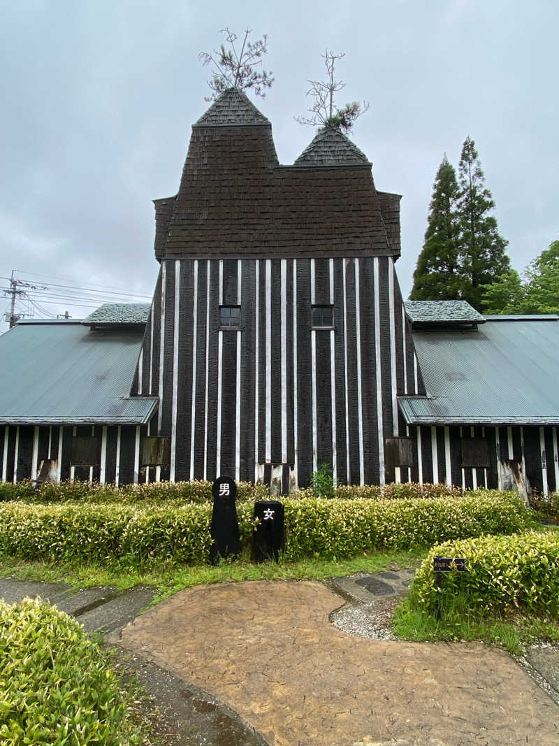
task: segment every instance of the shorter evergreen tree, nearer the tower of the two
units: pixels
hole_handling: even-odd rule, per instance
[[[441,301],[461,297],[460,226],[456,213],[458,182],[446,154],[440,163],[423,249],[417,257],[412,301]]]

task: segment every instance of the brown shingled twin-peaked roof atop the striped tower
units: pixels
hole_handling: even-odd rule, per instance
[[[155,255],[399,256],[399,196],[338,130],[281,166],[268,119],[227,89],[192,128],[177,195],[154,200]]]

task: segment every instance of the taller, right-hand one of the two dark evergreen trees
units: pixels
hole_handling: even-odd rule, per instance
[[[508,241],[499,235],[497,221],[490,215],[495,203],[484,185],[476,143],[467,137],[458,164],[460,197],[458,213],[461,233],[461,298],[479,311],[484,310],[482,285],[490,285],[510,269],[505,254]]]

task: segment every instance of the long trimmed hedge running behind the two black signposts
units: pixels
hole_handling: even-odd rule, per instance
[[[533,524],[513,493],[461,498],[356,500],[285,498],[285,558],[353,557],[375,548],[408,548],[482,533],[515,533]],[[253,504],[237,507],[241,546],[253,532]],[[209,504],[0,504],[0,556],[25,559],[126,558],[206,562]]]

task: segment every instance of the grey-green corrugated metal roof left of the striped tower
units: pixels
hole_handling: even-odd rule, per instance
[[[129,398],[141,345],[141,333],[74,320],[16,325],[0,336],[0,422],[147,422],[157,397]]]

